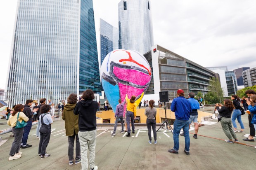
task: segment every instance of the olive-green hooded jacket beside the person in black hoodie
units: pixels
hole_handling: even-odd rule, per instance
[[[78,134],[78,116],[73,113],[75,104],[66,104],[62,112],[62,119],[65,121],[66,136],[73,136],[74,131]]]

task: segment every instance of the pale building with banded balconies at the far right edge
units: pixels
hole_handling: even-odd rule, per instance
[[[242,72],[244,87],[256,85],[256,68],[251,68]]]

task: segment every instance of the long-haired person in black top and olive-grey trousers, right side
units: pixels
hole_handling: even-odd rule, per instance
[[[223,129],[223,132],[229,139],[229,140],[225,140],[225,142],[228,142],[228,143],[234,143],[234,141],[238,142],[237,135],[232,129],[232,123],[231,123],[231,114],[234,109],[234,105],[232,101],[230,99],[225,99],[224,106],[221,104],[220,106],[221,106],[221,109],[219,107],[219,103],[216,104],[216,108],[221,116],[221,120],[220,120],[221,127]],[[234,141],[232,141],[232,137],[235,139]]]

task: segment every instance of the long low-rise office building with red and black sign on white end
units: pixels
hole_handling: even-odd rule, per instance
[[[152,79],[146,94],[159,94],[168,91],[169,98],[175,98],[178,89],[188,93],[207,93],[211,77],[215,74],[197,63],[159,45],[144,54],[152,70]]]

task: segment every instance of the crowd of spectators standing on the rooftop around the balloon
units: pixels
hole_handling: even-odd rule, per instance
[[[256,92],[253,90],[247,90],[245,92],[248,98],[242,98],[241,102],[246,105],[244,109],[247,110],[250,135],[248,138],[243,139],[245,141],[254,141],[255,128],[256,128]],[[197,139],[198,133],[198,109],[200,109],[199,102],[194,99],[195,94],[189,93],[189,98],[184,97],[185,93],[179,89],[177,91],[177,98],[172,100],[171,111],[175,113],[175,122],[173,124],[173,141],[174,147],[168,151],[172,154],[178,154],[179,150],[179,135],[185,137],[185,149],[186,155],[190,155],[190,136],[189,129],[190,124],[194,123],[194,139]],[[122,102],[119,100],[119,104],[116,106],[115,112],[115,125],[112,137],[116,135],[116,128],[119,120],[121,121],[121,132],[124,133],[123,120],[127,125],[127,135],[130,137],[130,133],[135,133],[134,119],[137,113],[137,103],[135,102],[136,96],[128,98],[126,95],[125,100]],[[66,136],[68,136],[68,157],[69,165],[73,163],[81,163],[82,170],[97,170],[98,167],[95,165],[95,146],[96,146],[96,112],[99,109],[100,103],[93,101],[94,93],[88,89],[83,92],[81,100],[78,101],[76,94],[70,94],[67,100],[67,104],[63,108],[62,119],[65,121]],[[25,105],[14,106],[14,111],[9,113],[9,119],[7,124],[12,127],[14,133],[14,141],[12,143],[11,150],[9,152],[9,161],[18,159],[21,157],[21,149],[32,147],[27,143],[28,134],[31,130],[32,121],[37,119],[38,125],[36,130],[36,137],[40,138],[38,154],[40,158],[47,158],[51,156],[46,153],[46,148],[50,142],[52,112],[54,105],[47,105],[46,99],[40,99],[40,105],[35,105],[31,109],[33,100],[26,100]],[[145,105],[149,105],[145,109],[145,116],[147,116],[147,129],[149,144],[152,144],[152,133],[154,134],[154,144],[157,144],[156,138],[156,108],[154,107],[154,100],[144,102]],[[124,112],[124,105],[127,105],[127,110]],[[160,100],[159,100],[160,105]],[[107,106],[107,105],[105,105]],[[55,109],[55,108],[54,108]],[[107,108],[105,108],[107,109]],[[237,100],[237,95],[232,95],[231,100],[225,99],[224,105],[217,103],[216,110],[218,111],[221,119],[220,123],[223,128],[223,132],[228,137],[225,142],[234,143],[239,142],[236,133],[244,133],[244,124],[242,122],[241,112],[242,107]],[[249,111],[248,111],[249,110]],[[34,113],[37,113],[36,116]],[[236,119],[240,125],[240,130],[237,130]],[[232,128],[232,124],[234,129]],[[183,129],[183,133],[180,133]],[[74,159],[73,149],[74,142],[76,141],[76,155]],[[87,153],[89,151],[89,160]],[[89,161],[89,162],[88,162]]]

